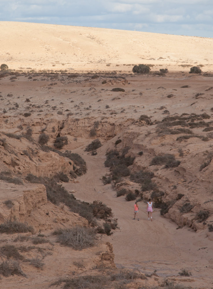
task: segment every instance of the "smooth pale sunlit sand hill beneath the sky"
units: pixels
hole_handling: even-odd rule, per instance
[[[152,70],[213,70],[212,38],[8,21],[0,31],[0,62],[11,69],[130,72],[123,64],[144,63]]]

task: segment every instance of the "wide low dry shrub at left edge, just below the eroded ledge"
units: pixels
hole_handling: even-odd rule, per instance
[[[34,229],[27,223],[21,223],[18,221],[7,220],[0,224],[0,233],[13,234],[13,233],[33,233]]]

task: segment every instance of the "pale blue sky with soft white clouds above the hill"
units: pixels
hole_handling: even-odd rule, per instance
[[[0,21],[213,38],[213,0],[0,0]]]

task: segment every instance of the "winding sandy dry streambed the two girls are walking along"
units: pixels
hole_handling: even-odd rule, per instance
[[[213,259],[207,260],[205,254],[212,255],[209,252],[212,245],[203,232],[196,233],[187,227],[177,230],[177,224],[160,216],[159,210],[153,212],[153,222],[148,221],[144,202],[139,203],[140,220],[133,220],[134,201],[116,198],[111,185],[103,186],[99,180],[108,171],[103,164],[104,148],[97,156],[87,155],[82,149],[75,152],[82,155],[88,171],[78,179],[79,183],[66,184],[65,187],[76,190],[78,199],[88,202],[100,200],[112,208],[120,229],[116,229],[112,236],[103,236],[103,240],[113,244],[117,266],[136,266],[146,272],[157,270],[160,276],[177,275],[181,268],[187,268],[194,278],[204,277],[210,284]]]

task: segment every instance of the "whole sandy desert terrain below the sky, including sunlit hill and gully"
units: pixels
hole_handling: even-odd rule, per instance
[[[7,221],[34,229],[1,231],[1,288],[213,288],[212,38],[0,27],[0,64],[9,68],[0,71],[0,230]],[[151,71],[133,73],[142,63]],[[192,66],[202,72],[189,73]],[[98,148],[88,148],[97,139]],[[118,163],[107,165],[112,151]],[[93,208],[86,216],[72,196],[82,208],[100,201],[112,214]],[[75,250],[53,234],[76,226],[95,232],[94,246]],[[18,262],[23,274],[5,276],[3,262]],[[100,275],[111,279],[64,281]]]

